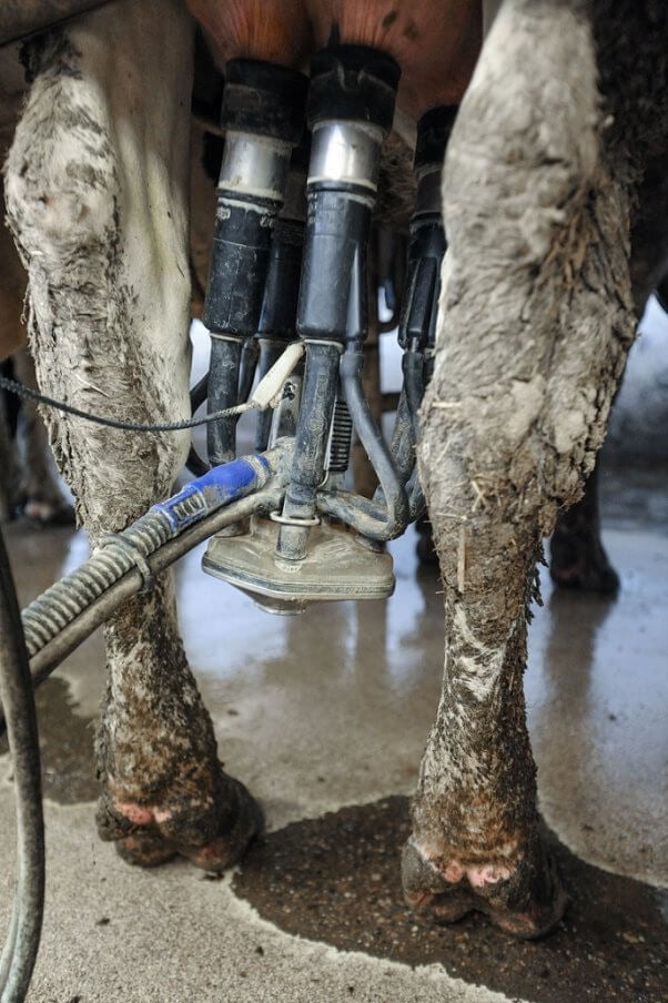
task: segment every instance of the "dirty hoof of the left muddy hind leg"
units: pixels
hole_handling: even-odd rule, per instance
[[[126,863],[153,868],[180,855],[206,871],[224,871],[262,832],[264,819],[243,783],[222,774],[213,804],[165,808],[105,793],[97,822],[100,838],[113,841]]]

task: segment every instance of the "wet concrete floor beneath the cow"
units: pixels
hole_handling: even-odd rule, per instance
[[[530,632],[526,691],[540,807],[547,824],[574,854],[606,872],[665,890],[668,473],[608,472],[603,488],[605,543],[621,575],[619,598],[610,602],[556,595],[544,576],[545,605],[536,609]],[[81,533],[16,525],[8,536],[22,602],[80,564],[87,553]],[[240,592],[203,575],[201,550],[178,568],[185,644],[215,722],[221,758],[261,799],[270,844],[281,847],[281,830],[289,823],[315,824],[316,834],[317,827],[322,824],[324,832],[328,825],[328,838],[341,842],[342,833],[345,838],[353,829],[350,819],[336,829],[336,819],[348,817],[327,815],[326,821],[325,812],[344,806],[365,806],[360,812],[376,810],[372,802],[412,790],[435,712],[443,661],[438,581],[433,573],[416,567],[414,543],[411,533],[393,546],[397,587],[387,604],[313,607],[295,619],[263,614]],[[412,955],[412,966],[392,960],[401,955],[398,950],[383,955],[363,938],[363,950],[353,950],[354,939],[342,940],[341,931],[320,934],[312,923],[302,926],[306,908],[301,913],[296,906],[294,912],[274,903],[284,906],[281,915],[294,912],[292,918],[263,918],[249,902],[254,899],[244,892],[249,882],[243,873],[233,888],[231,878],[205,880],[184,863],[151,872],[124,865],[112,847],[98,842],[93,827],[90,743],[102,665],[101,641],[93,637],[40,691],[48,895],[29,1000],[563,999],[558,985],[550,989],[545,965],[543,980],[533,982],[519,975],[525,961],[509,965],[495,961],[502,955],[512,959],[514,946],[509,938],[494,934],[489,955],[482,923],[476,928],[465,922],[451,936],[464,966],[452,963],[447,952],[437,960],[432,952],[425,955],[428,963],[421,964],[419,951]],[[6,929],[13,880],[10,778],[8,757],[0,756],[0,930]],[[404,812],[403,802],[396,803]],[[320,821],[305,823],[307,819]],[[294,828],[286,832],[294,841]],[[296,852],[298,858],[298,847]],[[262,865],[254,870],[262,880]],[[614,891],[613,898],[624,899],[624,889],[631,884],[619,885],[623,890]],[[641,942],[649,952],[647,964],[656,966],[665,951],[668,893],[640,891],[648,896],[649,919],[639,932],[632,895],[628,909],[618,901],[621,919],[615,918],[606,934],[609,956],[619,954],[619,945]],[[307,909],[317,914],[326,890],[321,892],[315,882],[313,894]],[[350,899],[353,893],[342,894]],[[393,899],[388,908],[402,912],[395,892],[387,894],[388,903]],[[334,915],[350,925],[342,901],[343,910]],[[263,911],[265,916],[271,913]],[[406,935],[419,944],[419,925],[406,926],[413,921],[401,919]],[[364,916],[361,922],[366,922]],[[549,956],[554,970],[557,955],[568,960],[576,942],[593,958],[594,949],[583,948],[589,944],[585,934],[589,936],[574,923],[555,934],[551,946],[546,941],[527,950],[534,964]],[[321,935],[325,942],[317,942]],[[346,950],[333,946],[341,943]],[[486,962],[483,943],[489,955]],[[605,944],[601,950],[599,970],[571,973],[581,992],[569,991],[566,999],[611,999],[601,974]],[[372,956],[378,953],[383,956]],[[634,961],[624,963],[630,979]],[[500,983],[499,969],[508,970]],[[465,979],[455,972],[465,972]],[[668,999],[656,980],[642,981],[637,972],[634,977],[636,983],[620,984],[614,999],[629,1003]]]

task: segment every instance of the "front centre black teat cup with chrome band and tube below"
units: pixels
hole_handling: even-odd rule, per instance
[[[327,47],[311,65],[308,209],[297,305],[306,368],[282,511],[291,525],[282,526],[277,541],[279,554],[293,560],[305,557],[317,519],[325,448],[315,440],[326,443],[332,426],[340,354],[348,344],[358,348],[366,336],[371,214],[398,77],[392,57],[364,45]]]

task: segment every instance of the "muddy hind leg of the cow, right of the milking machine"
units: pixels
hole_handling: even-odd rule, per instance
[[[593,467],[634,335],[628,199],[601,149],[596,80],[584,14],[506,0],[446,159],[423,408],[446,648],[404,888],[441,921],[480,910],[524,936],[566,901],[538,833],[523,692],[535,563]]]

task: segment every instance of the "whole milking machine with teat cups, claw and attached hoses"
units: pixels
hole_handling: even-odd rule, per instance
[[[32,686],[205,539],[203,569],[272,612],[393,591],[385,545],[424,507],[417,412],[433,366],[445,250],[439,172],[454,120],[453,109],[435,109],[418,123],[417,197],[398,325],[403,387],[387,443],[364,395],[362,369],[370,229],[398,78],[383,52],[346,44],[321,51],[312,62],[305,133],[302,74],[253,60],[227,64],[204,311],[211,368],[198,391],[201,401],[206,388],[209,414],[162,426],[88,415],[138,432],[206,423],[209,464],[199,460],[201,476],[103,539],[23,611],[22,628],[0,551],[0,732],[6,726],[14,760],[20,832],[18,904],[0,967],[3,1003],[23,997],[41,918]],[[246,412],[257,416],[257,452],[237,457],[236,423]],[[373,498],[351,484],[353,435],[378,479]]]

